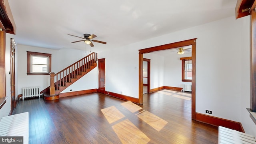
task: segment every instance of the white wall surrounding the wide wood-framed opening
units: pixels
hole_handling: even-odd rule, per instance
[[[248,17],[230,17],[101,52],[98,56],[106,58],[106,90],[120,93],[126,89],[125,95],[138,98],[138,70],[134,70],[138,50],[198,38],[196,112],[212,110],[211,116],[242,122],[246,132],[255,132],[245,110],[250,107],[248,27]]]

